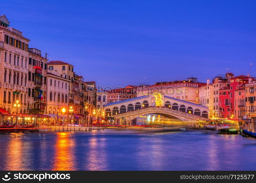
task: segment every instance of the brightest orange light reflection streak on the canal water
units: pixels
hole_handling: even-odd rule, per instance
[[[56,133],[55,156],[53,157],[53,168],[55,171],[75,170],[74,161],[74,139],[70,132]]]

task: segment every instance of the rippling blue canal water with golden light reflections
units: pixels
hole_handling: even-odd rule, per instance
[[[0,170],[256,170],[256,139],[145,130],[0,134]]]

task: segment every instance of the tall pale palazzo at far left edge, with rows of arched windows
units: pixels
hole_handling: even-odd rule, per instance
[[[21,31],[0,16],[0,107],[10,113],[27,112],[28,44]],[[14,108],[18,100],[19,108]]]

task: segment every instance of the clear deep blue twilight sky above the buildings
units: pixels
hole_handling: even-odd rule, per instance
[[[0,0],[0,7],[30,48],[101,86],[191,75],[204,82],[226,68],[250,73],[250,62],[256,76],[256,0]]]

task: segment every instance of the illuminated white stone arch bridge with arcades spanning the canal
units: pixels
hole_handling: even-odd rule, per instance
[[[209,109],[203,105],[160,93],[109,103],[103,110],[105,116],[111,116],[117,124],[135,124],[140,117],[147,118],[147,122],[159,121],[159,118],[188,121],[205,120],[209,115]]]

